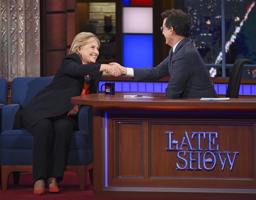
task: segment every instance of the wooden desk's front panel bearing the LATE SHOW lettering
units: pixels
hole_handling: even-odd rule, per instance
[[[107,129],[107,186],[255,189],[253,120],[107,111]]]

